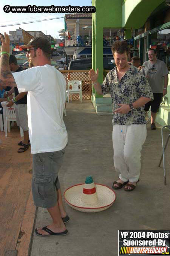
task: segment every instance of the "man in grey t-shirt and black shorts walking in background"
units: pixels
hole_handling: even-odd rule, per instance
[[[148,79],[154,100],[145,104],[145,111],[151,107],[151,130],[156,130],[156,114],[159,112],[162,96],[167,94],[169,71],[164,61],[156,59],[155,49],[148,50],[148,58],[149,60],[143,63],[142,71]]]

